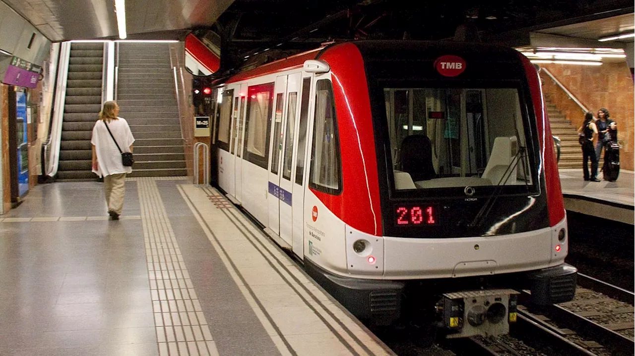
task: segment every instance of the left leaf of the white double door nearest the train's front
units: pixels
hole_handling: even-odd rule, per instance
[[[282,156],[282,135],[284,103],[286,94],[286,75],[276,78],[274,89],[274,118],[271,125],[271,140],[269,152],[271,152],[271,162],[269,163],[269,194],[267,194],[267,207],[269,212],[269,234],[279,236],[280,234],[280,200],[284,199],[283,191],[280,189],[280,158]],[[287,242],[287,241],[285,241]],[[289,243],[289,242],[287,242]]]

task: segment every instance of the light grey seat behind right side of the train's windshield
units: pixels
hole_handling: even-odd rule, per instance
[[[516,136],[496,137],[494,146],[491,148],[490,160],[487,162],[485,172],[483,172],[481,178],[489,179],[491,184],[495,186],[498,185],[498,182],[502,185],[516,184],[518,165],[511,169],[511,172],[508,171],[505,174],[507,167],[512,165],[512,160],[514,160],[516,153],[518,153],[518,139]],[[506,182],[502,182],[505,181],[504,174],[505,178],[509,175]]]

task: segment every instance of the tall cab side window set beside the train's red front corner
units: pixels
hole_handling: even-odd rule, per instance
[[[318,80],[315,98],[309,186],[324,193],[339,194],[342,192],[340,140],[330,80]]]

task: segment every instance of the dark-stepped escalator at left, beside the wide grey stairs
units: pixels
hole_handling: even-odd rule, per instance
[[[62,141],[57,178],[95,179],[91,172],[90,139],[102,109],[104,44],[70,44],[69,77],[66,82]]]

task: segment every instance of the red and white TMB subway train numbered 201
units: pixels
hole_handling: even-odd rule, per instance
[[[502,334],[571,300],[537,68],[513,49],[351,41],[214,83],[218,186],[352,314]]]

